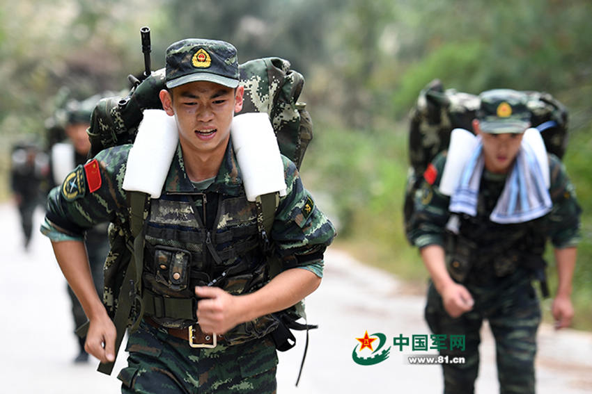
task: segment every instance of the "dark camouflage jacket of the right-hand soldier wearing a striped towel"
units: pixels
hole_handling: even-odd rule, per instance
[[[499,263],[504,253],[508,253],[508,250],[517,247],[524,249],[524,245],[527,248],[531,247],[531,249],[536,247],[538,249],[536,253],[542,254],[547,238],[550,238],[556,248],[577,245],[581,210],[577,204],[575,190],[559,158],[552,154],[549,154],[548,157],[552,211],[543,217],[523,224],[497,224],[490,221],[489,215],[504,189],[506,175],[493,174],[484,170],[479,187],[477,215],[476,217],[460,215],[459,235],[457,236],[465,238],[474,245],[476,255],[472,256],[472,260],[481,264],[491,262],[492,265],[495,265]],[[445,247],[447,257],[449,257],[451,249],[447,245],[447,235],[451,233],[446,231],[446,224],[451,217],[450,197],[439,192],[439,182],[445,163],[446,151],[436,156],[432,165],[426,170],[421,189],[415,196],[416,211],[412,217],[410,232],[407,235],[419,248],[428,245]],[[538,241],[534,242],[531,239],[536,237],[542,241],[537,243]],[[534,245],[535,243],[536,245]]]

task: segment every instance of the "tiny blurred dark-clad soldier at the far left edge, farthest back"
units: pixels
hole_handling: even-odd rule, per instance
[[[40,186],[47,177],[47,154],[31,142],[19,142],[13,147],[10,160],[10,188],[21,217],[24,248],[29,247],[33,229],[33,212],[40,199]]]

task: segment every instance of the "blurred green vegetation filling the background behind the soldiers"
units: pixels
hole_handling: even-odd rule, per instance
[[[546,91],[570,110],[564,163],[584,210],[574,327],[592,330],[589,15],[589,0],[0,0],[0,199],[10,197],[11,145],[44,145],[64,95],[129,89],[127,75],[143,71],[142,26],[152,69],[171,42],[227,40],[241,63],[279,56],[304,74],[315,138],[303,172],[332,210],[337,245],[421,290],[427,274],[403,234],[407,114],[419,90],[438,78],[473,94]]]

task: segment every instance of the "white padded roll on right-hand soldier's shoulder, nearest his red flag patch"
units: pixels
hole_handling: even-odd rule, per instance
[[[468,130],[454,129],[450,133],[450,145],[446,156],[446,164],[440,179],[440,192],[444,195],[452,195],[458,182],[462,169],[471,158],[477,145],[477,137]]]

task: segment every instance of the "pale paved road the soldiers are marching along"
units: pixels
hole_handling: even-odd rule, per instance
[[[41,220],[38,212],[36,220]],[[72,364],[77,348],[72,334],[70,301],[65,280],[54,260],[49,241],[36,233],[24,253],[17,213],[0,204],[0,381],[10,393],[118,393],[119,382],[96,372],[96,361]],[[325,279],[307,299],[311,331],[309,352],[299,387],[295,388],[304,349],[281,353],[279,393],[441,393],[438,366],[412,366],[405,356],[414,352],[391,347],[388,359],[375,366],[352,361],[355,338],[383,333],[390,345],[394,336],[429,334],[421,317],[423,297],[406,295],[396,279],[332,249],[327,253]],[[579,331],[554,332],[544,326],[539,334],[538,393],[592,392],[592,335]],[[364,350],[367,352],[367,350]],[[498,392],[494,348],[484,329],[482,363],[477,393]],[[415,354],[416,355],[416,354]],[[116,370],[125,365],[120,352]]]

